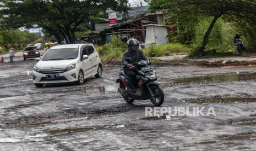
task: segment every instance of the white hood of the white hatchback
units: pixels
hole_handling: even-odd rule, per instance
[[[71,63],[77,62],[77,59],[72,60],[49,60],[42,61],[36,63],[40,69],[55,69],[55,68],[66,68]]]

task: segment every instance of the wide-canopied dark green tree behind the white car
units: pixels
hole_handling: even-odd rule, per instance
[[[124,10],[124,0],[3,0],[0,16],[8,27],[38,25],[51,33],[60,43],[64,37],[74,43],[75,31],[90,16],[112,8]]]

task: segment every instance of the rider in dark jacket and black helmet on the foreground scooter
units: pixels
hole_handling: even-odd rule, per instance
[[[127,62],[125,59],[130,57],[134,62],[139,62],[141,60],[148,60],[148,58],[144,55],[143,51],[139,49],[139,41],[135,38],[130,38],[127,41],[128,50],[123,53],[123,69],[124,73],[130,78],[135,89],[137,89],[137,96],[141,96],[141,92],[139,90],[138,81],[136,78],[136,70],[130,69],[132,68],[132,63]]]

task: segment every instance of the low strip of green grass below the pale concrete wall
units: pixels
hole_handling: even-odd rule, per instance
[[[146,56],[150,56],[155,53],[156,56],[163,56],[165,53],[169,55],[173,54],[189,54],[191,49],[187,48],[185,45],[179,43],[171,43],[166,45],[151,45],[149,48],[143,49]]]

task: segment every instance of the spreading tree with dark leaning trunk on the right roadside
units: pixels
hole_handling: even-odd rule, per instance
[[[256,1],[250,0],[161,0],[164,4],[158,4],[162,8],[168,8],[171,16],[179,20],[186,19],[192,21],[194,18],[184,18],[184,16],[197,16],[199,19],[211,18],[211,24],[206,30],[198,49],[199,53],[204,54],[205,46],[208,42],[211,31],[219,18],[225,18],[229,21],[242,21],[254,25],[256,23]],[[155,0],[148,1],[150,5],[155,5]],[[181,22],[182,24],[182,22]]]

